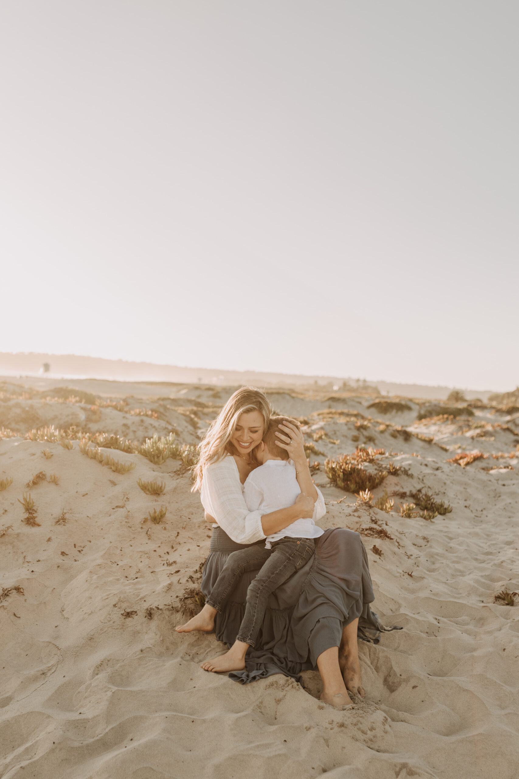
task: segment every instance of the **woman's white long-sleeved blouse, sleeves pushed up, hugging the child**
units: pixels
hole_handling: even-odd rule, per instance
[[[319,490],[317,495],[314,520],[320,520],[326,513]],[[238,466],[231,454],[205,468],[200,499],[205,511],[214,516],[219,527],[237,544],[254,544],[254,541],[266,538],[261,527],[261,516],[265,512],[247,509],[244,485],[240,482]]]

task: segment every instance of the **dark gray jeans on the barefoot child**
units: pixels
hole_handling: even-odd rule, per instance
[[[238,641],[254,647],[265,616],[268,596],[302,568],[312,555],[313,538],[289,537],[274,541],[272,550],[258,545],[232,552],[205,602],[221,612],[240,576],[246,571],[258,570],[258,575],[247,590],[245,615],[237,635]]]

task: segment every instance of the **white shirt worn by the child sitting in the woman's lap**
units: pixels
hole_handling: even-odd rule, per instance
[[[300,495],[296,468],[292,460],[267,460],[247,476],[244,484],[244,499],[249,511],[261,511],[269,514],[279,509],[287,509]],[[314,514],[316,510],[314,508]],[[324,533],[313,519],[295,520],[290,525],[267,536],[265,547],[271,548],[273,541],[280,538],[319,538]]]

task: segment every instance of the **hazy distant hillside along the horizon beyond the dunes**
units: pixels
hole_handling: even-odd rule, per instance
[[[44,368],[45,366],[45,368]],[[344,376],[309,376],[287,373],[268,373],[257,371],[226,371],[219,368],[182,368],[177,365],[154,365],[151,362],[130,362],[125,360],[105,360],[97,357],[82,357],[77,354],[43,354],[38,352],[11,354],[0,352],[0,375],[37,376],[45,375],[49,379],[107,379],[123,382],[181,382],[204,383],[219,386],[252,384],[255,386],[308,386],[317,382],[330,389],[338,389],[343,382],[356,388],[374,386],[381,393],[445,400],[453,387],[426,386],[419,384],[398,384],[397,382],[365,382]],[[367,385],[367,386],[366,386]],[[460,388],[458,388],[460,389]],[[465,397],[482,400],[491,390],[463,390]]]

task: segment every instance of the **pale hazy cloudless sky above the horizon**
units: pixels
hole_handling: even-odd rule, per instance
[[[512,389],[518,23],[2,0],[0,351]]]

